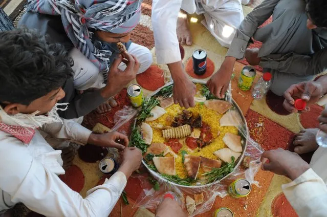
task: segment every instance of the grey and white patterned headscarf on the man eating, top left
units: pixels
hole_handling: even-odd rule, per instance
[[[142,0],[29,0],[28,11],[61,15],[63,27],[74,46],[103,73],[110,69],[111,51],[94,46],[89,30],[124,33],[138,24]]]

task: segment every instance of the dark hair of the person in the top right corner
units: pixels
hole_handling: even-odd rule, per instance
[[[327,1],[326,0],[309,0],[307,13],[311,21],[317,27],[327,28]]]

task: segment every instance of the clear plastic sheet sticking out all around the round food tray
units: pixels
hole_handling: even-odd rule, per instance
[[[194,81],[194,80],[193,80]],[[196,80],[194,82],[197,82]],[[203,83],[203,82],[201,82]],[[170,85],[171,83],[166,84],[165,86]],[[226,101],[232,102],[231,90],[226,92]],[[235,109],[235,108],[232,108]],[[115,126],[113,131],[118,130],[121,133],[128,134],[126,132],[126,125],[128,127],[133,127],[134,118],[137,116],[138,110],[130,106],[124,106],[122,110],[118,111],[115,115]],[[163,194],[167,191],[172,191],[177,194],[179,198],[181,207],[186,209],[185,200],[189,196],[194,199],[194,194],[204,194],[204,202],[196,206],[196,210],[190,214],[190,216],[195,216],[197,214],[207,212],[212,208],[212,205],[217,196],[224,198],[227,196],[228,186],[236,179],[244,178],[248,180],[251,184],[254,184],[259,187],[259,183],[255,181],[255,175],[259,170],[260,156],[263,153],[263,149],[252,140],[248,135],[248,129],[246,124],[240,120],[241,116],[232,116],[232,122],[239,123],[235,126],[238,128],[239,135],[242,137],[243,141],[246,141],[246,144],[243,144],[243,147],[246,147],[244,153],[244,159],[242,162],[236,161],[235,168],[227,177],[223,178],[221,181],[215,182],[215,184],[207,185],[205,187],[197,186],[196,188],[189,187],[180,187],[168,183],[164,179],[158,179],[155,182],[158,182],[154,188],[155,178],[147,172],[146,168],[143,167],[143,172],[134,173],[134,177],[137,177],[140,180],[141,187],[143,192],[139,195],[134,207],[147,208],[147,209],[156,209],[157,206],[163,200]],[[125,126],[125,127],[124,127]],[[239,158],[242,158],[243,155]],[[142,171],[142,169],[140,169]],[[156,190],[155,190],[156,189]],[[254,193],[254,192],[252,192]]]

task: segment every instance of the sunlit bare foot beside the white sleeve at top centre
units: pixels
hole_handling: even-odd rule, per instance
[[[192,34],[188,26],[187,14],[184,11],[180,11],[177,19],[177,38],[181,45],[192,45]]]

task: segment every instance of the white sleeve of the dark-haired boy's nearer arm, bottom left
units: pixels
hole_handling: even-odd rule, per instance
[[[64,184],[54,172],[28,155],[26,146],[9,138],[10,148],[0,153],[0,188],[13,203],[46,216],[107,217],[126,186],[126,177],[116,172],[103,185],[88,192],[86,198]],[[4,143],[2,143],[4,145]]]

